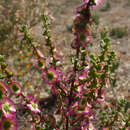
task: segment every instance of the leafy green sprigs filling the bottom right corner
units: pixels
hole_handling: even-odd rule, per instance
[[[130,102],[125,99],[120,99],[114,104],[114,106],[109,107],[109,111],[102,112],[100,129],[109,128],[111,130],[127,130],[130,125]],[[103,125],[104,124],[104,125]]]

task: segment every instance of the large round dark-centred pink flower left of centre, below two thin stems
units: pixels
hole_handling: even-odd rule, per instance
[[[47,84],[54,84],[58,80],[58,77],[58,72],[53,68],[43,71],[42,73],[42,79]]]

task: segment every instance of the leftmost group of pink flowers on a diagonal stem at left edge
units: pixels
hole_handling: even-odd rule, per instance
[[[17,130],[16,105],[8,95],[21,96],[21,100],[26,102],[24,107],[26,106],[26,109],[33,113],[41,112],[40,106],[34,98],[24,96],[22,86],[19,82],[13,80],[13,72],[7,67],[2,58],[0,59],[0,70],[3,75],[3,80],[0,81],[0,130]]]

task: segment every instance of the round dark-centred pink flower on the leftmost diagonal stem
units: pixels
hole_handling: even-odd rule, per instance
[[[20,95],[22,92],[22,86],[18,82],[15,82],[15,81],[12,81],[11,84],[9,84],[8,88],[10,92],[12,94],[15,94],[16,96]]]

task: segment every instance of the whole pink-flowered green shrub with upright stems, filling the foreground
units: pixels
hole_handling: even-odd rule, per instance
[[[22,44],[31,49],[36,56],[35,67],[42,73],[41,78],[51,87],[51,93],[57,99],[56,114],[59,120],[51,113],[45,113],[34,95],[25,95],[20,83],[15,81],[13,72],[8,68],[4,57],[0,55],[0,129],[17,130],[17,119],[15,117],[16,105],[13,99],[9,99],[9,93],[20,99],[21,107],[27,115],[31,116],[30,122],[35,130],[95,130],[94,117],[98,103],[106,99],[105,89],[115,81],[115,70],[117,68],[116,55],[109,49],[111,45],[107,31],[100,33],[100,53],[88,52],[88,44],[91,41],[91,8],[96,7],[101,1],[83,1],[77,7],[74,20],[74,40],[71,47],[74,54],[71,57],[71,71],[62,73],[61,59],[57,49],[52,42],[49,30],[49,19],[44,13],[43,36],[50,56],[44,56],[33,42],[34,38],[29,34],[26,25],[20,30],[23,34]],[[100,129],[113,129],[115,123],[119,123],[119,129],[127,129],[129,123],[129,103],[121,100],[117,107],[107,115],[102,114]],[[125,108],[125,109],[124,109]],[[109,117],[110,116],[110,117]],[[124,117],[125,116],[125,117]],[[122,117],[122,118],[121,118]],[[120,119],[120,120],[119,120]]]

